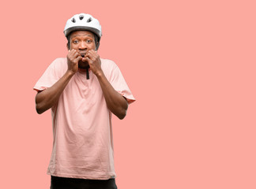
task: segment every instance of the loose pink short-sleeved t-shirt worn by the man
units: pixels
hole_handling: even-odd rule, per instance
[[[100,59],[107,80],[127,102],[135,101],[114,61]],[[49,65],[34,89],[51,87],[66,72],[66,57]],[[115,178],[111,112],[96,76],[77,72],[51,108],[53,149],[47,174],[70,178]]]

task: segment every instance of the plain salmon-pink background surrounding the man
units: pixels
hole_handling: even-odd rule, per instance
[[[76,13],[103,28],[137,102],[114,119],[119,189],[256,188],[254,1],[1,3],[1,188],[50,187],[51,113],[32,87]]]

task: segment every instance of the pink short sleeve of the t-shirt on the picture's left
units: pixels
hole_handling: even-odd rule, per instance
[[[40,77],[40,80],[36,82],[36,85],[33,87],[36,91],[43,91],[48,87],[54,85],[60,78],[60,60],[56,59],[48,66],[46,71],[43,73],[43,76]]]

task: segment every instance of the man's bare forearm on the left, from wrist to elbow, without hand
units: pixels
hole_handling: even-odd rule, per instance
[[[59,79],[52,87],[40,91],[36,95],[36,112],[43,113],[50,109],[58,102],[58,98],[62,95],[67,83],[72,78],[73,73],[67,71],[61,79]]]

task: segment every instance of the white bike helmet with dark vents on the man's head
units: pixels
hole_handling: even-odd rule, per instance
[[[90,14],[80,13],[71,17],[66,21],[66,26],[64,28],[64,34],[66,38],[70,35],[71,31],[76,30],[88,30],[92,31],[99,37],[99,42],[101,38],[101,25],[99,20],[92,17]]]

